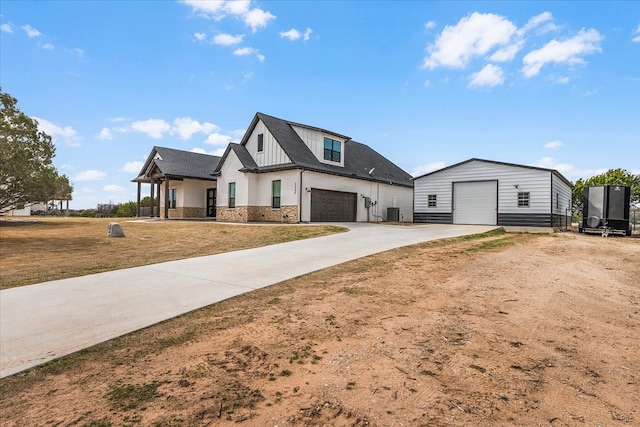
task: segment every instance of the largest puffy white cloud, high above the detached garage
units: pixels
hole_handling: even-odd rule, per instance
[[[510,43],[517,28],[508,19],[492,13],[474,12],[456,25],[447,25],[428,46],[423,67],[464,68],[471,59]]]

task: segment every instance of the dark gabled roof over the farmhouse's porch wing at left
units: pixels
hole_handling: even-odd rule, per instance
[[[156,158],[156,153],[160,158]],[[152,166],[157,166],[162,176],[172,178],[193,178],[213,181],[211,176],[218,167],[220,157],[173,148],[153,147],[147,161],[134,182],[149,181]]]

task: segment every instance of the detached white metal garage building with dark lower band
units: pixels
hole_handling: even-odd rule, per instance
[[[556,170],[474,158],[414,179],[413,221],[560,228],[571,192]]]

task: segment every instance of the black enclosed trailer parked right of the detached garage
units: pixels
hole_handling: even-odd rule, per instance
[[[631,235],[629,201],[631,188],[622,185],[595,185],[584,188],[581,233]]]

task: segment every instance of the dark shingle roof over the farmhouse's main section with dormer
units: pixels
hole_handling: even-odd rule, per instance
[[[245,166],[245,171],[247,172],[265,173],[282,169],[307,169],[316,172],[329,173],[332,175],[413,187],[411,175],[409,175],[407,172],[405,172],[404,170],[393,164],[391,161],[389,161],[387,158],[365,144],[353,141],[351,140],[351,138],[336,132],[282,120],[263,113],[256,113],[253,121],[251,122],[251,125],[247,129],[247,132],[242,139],[242,142],[240,143],[242,148],[245,147],[249,136],[251,135],[251,132],[253,131],[259,120],[262,120],[271,135],[273,135],[276,141],[278,141],[278,144],[280,144],[284,152],[287,154],[287,156],[291,160],[291,163],[273,165],[268,167],[258,167],[257,165],[255,165],[255,162],[251,158],[251,155],[246,151],[246,149],[244,149],[244,152],[242,152],[239,148],[234,147],[234,152],[240,158],[240,161]],[[300,136],[296,133],[292,126],[300,126],[344,139],[346,141],[344,144],[343,153],[344,166],[326,164],[318,160],[318,158],[311,152],[309,147],[304,143],[304,141],[300,138]],[[228,152],[229,149],[227,149],[225,156],[228,154]],[[251,162],[253,164],[249,165],[249,162],[247,160],[243,160],[243,158],[246,159],[246,157],[241,157],[241,155],[251,159]],[[220,166],[224,162],[225,156],[223,156],[223,160],[220,162]],[[218,171],[219,170],[217,170],[216,172]],[[370,171],[371,173],[369,173]]]

